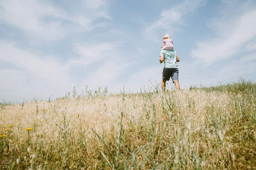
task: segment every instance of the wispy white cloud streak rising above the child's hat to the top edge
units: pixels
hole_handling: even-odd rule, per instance
[[[154,32],[158,29],[168,31],[168,34],[172,36],[180,25],[185,25],[184,17],[204,4],[205,0],[185,0],[183,3],[173,5],[172,8],[163,11],[157,21],[147,26],[145,29],[146,37],[156,39]]]

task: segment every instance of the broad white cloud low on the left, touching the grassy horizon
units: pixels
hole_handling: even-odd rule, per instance
[[[55,58],[38,56],[20,50],[14,43],[0,43],[0,62],[11,68],[0,69],[1,91],[9,91],[5,99],[20,100],[35,96],[64,95],[73,87],[70,75]],[[22,98],[20,98],[22,96]]]

